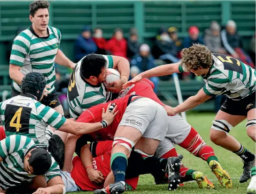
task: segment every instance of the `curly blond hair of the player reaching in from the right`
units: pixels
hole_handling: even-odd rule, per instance
[[[207,46],[202,44],[193,44],[193,46],[181,51],[181,63],[185,72],[192,69],[197,70],[199,67],[207,69],[212,65],[211,51]]]

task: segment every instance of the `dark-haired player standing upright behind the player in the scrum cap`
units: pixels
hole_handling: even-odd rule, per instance
[[[32,25],[23,30],[13,41],[9,74],[13,79],[12,97],[21,93],[21,81],[29,72],[42,73],[47,81],[48,95],[42,104],[54,108],[64,115],[61,103],[54,88],[54,62],[74,69],[71,62],[59,49],[61,32],[59,29],[48,26],[49,2],[37,0],[30,4],[30,21]]]

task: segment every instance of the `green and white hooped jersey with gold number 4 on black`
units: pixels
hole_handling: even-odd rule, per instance
[[[66,121],[53,108],[25,94],[2,101],[0,113],[7,137],[15,134],[30,137],[38,147],[48,147],[51,136],[47,131],[48,125],[59,129]]]

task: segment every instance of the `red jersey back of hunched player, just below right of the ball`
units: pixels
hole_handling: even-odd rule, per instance
[[[154,83],[149,79],[144,78],[136,84],[133,84],[132,86],[129,86],[122,90],[117,98],[119,99],[126,95],[137,94],[139,96],[150,98],[153,101],[156,101],[157,103],[163,105],[163,102],[159,100],[153,89]]]

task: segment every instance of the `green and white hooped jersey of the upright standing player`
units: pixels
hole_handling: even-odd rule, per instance
[[[47,26],[49,37],[38,37],[32,26],[23,30],[13,41],[10,64],[18,65],[20,72],[39,72],[45,76],[47,85],[54,90],[55,67],[54,60],[60,47],[61,32],[51,26]],[[13,81],[13,87],[21,92],[21,86]]]

